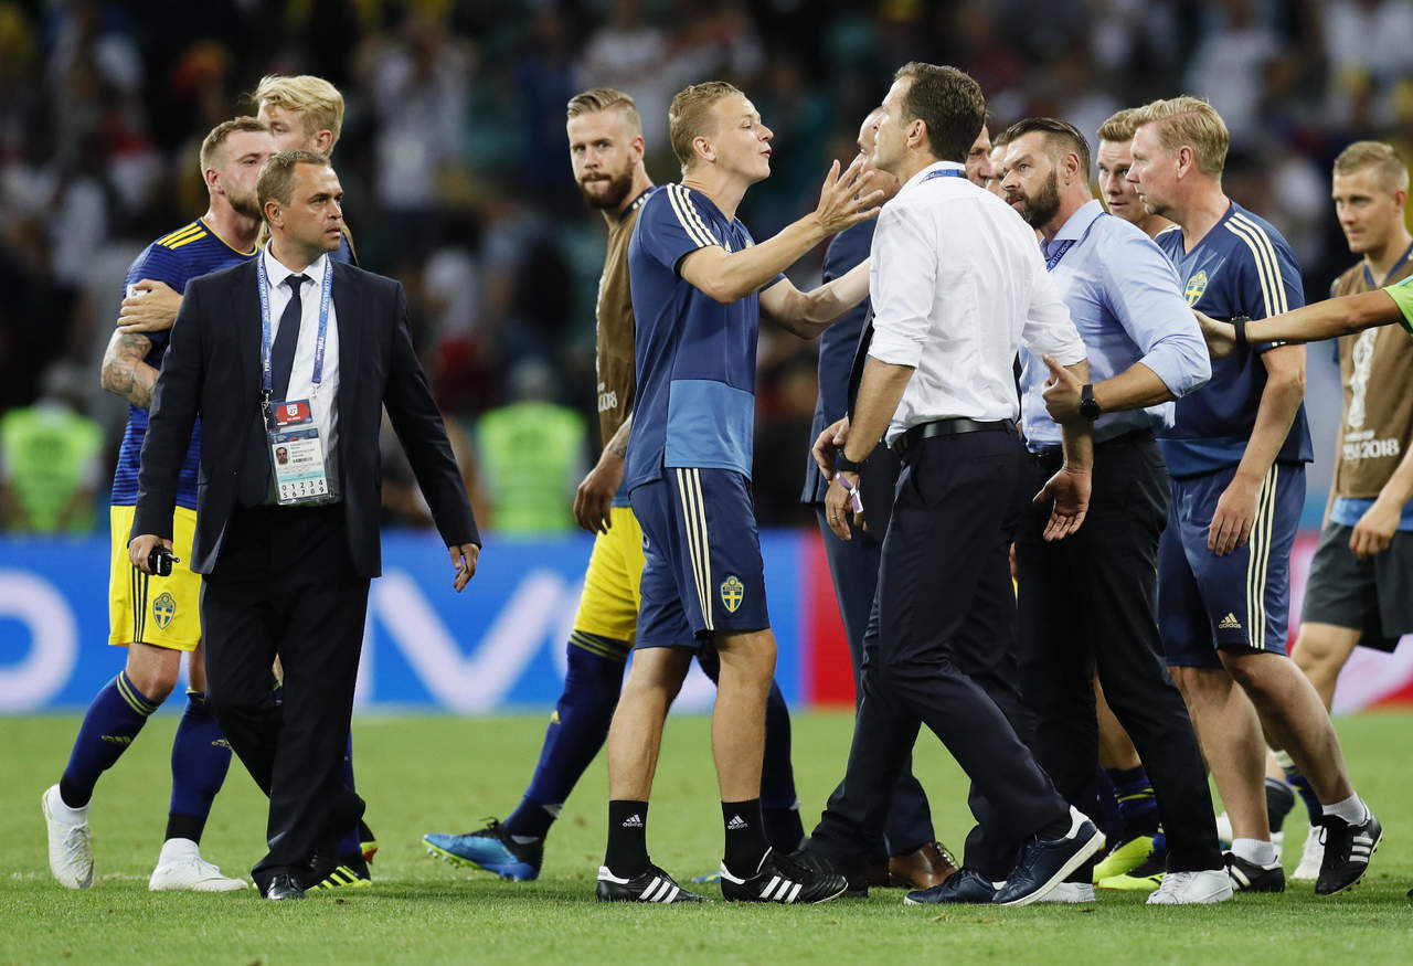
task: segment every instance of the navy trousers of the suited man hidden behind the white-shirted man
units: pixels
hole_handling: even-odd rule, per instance
[[[892,453],[887,453],[892,456]],[[875,455],[873,459],[877,459]],[[872,460],[870,460],[872,462]],[[872,500],[892,500],[893,487],[869,489]],[[883,551],[883,534],[870,530],[853,530],[853,539],[842,541],[825,523],[824,508],[815,508],[820,518],[820,535],[824,538],[824,555],[834,578],[834,596],[839,602],[844,617],[844,636],[849,641],[849,662],[853,667],[855,708],[863,696],[863,634],[873,613],[873,593],[879,582],[879,558]],[[893,788],[893,799],[882,826],[870,829],[873,842],[869,846],[869,860],[877,861],[890,854],[906,854],[937,839],[933,829],[933,813],[927,805],[927,792],[913,775],[911,756],[899,774]]]

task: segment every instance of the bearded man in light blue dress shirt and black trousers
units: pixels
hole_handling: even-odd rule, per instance
[[[1046,541],[1050,508],[1040,503],[1016,537],[1022,691],[1040,716],[1036,760],[1061,795],[1081,802],[1098,768],[1098,672],[1164,819],[1166,880],[1149,901],[1218,902],[1231,886],[1211,794],[1187,708],[1163,674],[1154,614],[1169,477],[1153,434],[1173,424],[1173,400],[1211,376],[1201,332],[1161,250],[1094,198],[1089,148],[1074,126],[1027,119],[1000,143],[1006,202],[1043,236],[1046,268],[1094,380],[1081,386],[1054,360],[1022,353],[1023,429],[1041,484],[1064,459],[1061,424],[1094,427],[1084,527]],[[1156,816],[1143,832],[1157,832]],[[1065,898],[1092,901],[1091,877],[1092,867],[1081,869],[1063,887]]]

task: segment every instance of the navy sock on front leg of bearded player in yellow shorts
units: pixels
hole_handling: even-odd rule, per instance
[[[564,691],[550,715],[534,777],[519,808],[504,821],[506,832],[543,839],[584,770],[603,747],[623,688],[629,645],[609,637],[574,631]],[[619,870],[613,866],[615,873]]]

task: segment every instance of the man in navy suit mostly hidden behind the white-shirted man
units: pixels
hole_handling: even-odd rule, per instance
[[[859,154],[865,160],[865,171],[873,171],[870,185],[883,191],[887,201],[897,193],[899,181],[890,174],[872,167],[873,134],[877,126],[877,110],[863,119],[859,129]],[[982,131],[982,137],[985,137]],[[982,157],[986,157],[985,153]],[[869,257],[873,243],[873,219],[859,222],[834,236],[824,256],[824,280],[844,275]],[[855,360],[868,354],[866,330],[873,316],[869,301],[865,299],[824,330],[820,336],[820,398],[814,407],[814,424],[810,438],[817,438],[827,427],[842,419],[852,408],[853,394],[859,380]],[[800,501],[814,506],[820,520],[820,534],[824,538],[824,552],[834,578],[834,593],[839,600],[844,617],[844,633],[849,641],[849,658],[853,664],[853,688],[859,691],[859,664],[863,655],[863,631],[873,607],[873,590],[877,586],[879,552],[887,518],[892,508],[893,484],[897,480],[899,459],[887,446],[879,445],[868,460],[869,479],[863,482],[866,493],[877,494],[866,506],[868,530],[856,530],[852,541],[834,535],[824,518],[824,493],[829,480],[824,477],[812,458],[805,459],[804,491]],[[887,499],[883,499],[887,494]],[[870,886],[903,886],[907,888],[930,888],[941,883],[955,870],[947,850],[935,840],[933,816],[927,806],[927,794],[904,770],[893,791],[893,804],[887,822],[879,830],[875,852],[869,864]]]

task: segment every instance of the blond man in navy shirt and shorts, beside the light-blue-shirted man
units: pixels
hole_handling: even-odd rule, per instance
[[[1226,126],[1204,100],[1142,109],[1129,179],[1178,225],[1157,237],[1188,305],[1265,318],[1301,301],[1294,254],[1269,223],[1222,193]],[[1282,891],[1265,799],[1262,729],[1321,802],[1325,856],[1316,893],[1359,880],[1382,828],[1349,782],[1320,695],[1286,658],[1290,547],[1311,459],[1304,347],[1262,342],[1212,364],[1163,435],[1173,501],[1159,549],[1159,620],[1173,676],[1232,822],[1238,890]],[[1259,717],[1258,717],[1259,715]]]

